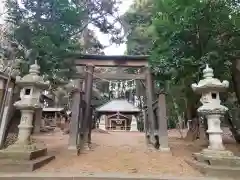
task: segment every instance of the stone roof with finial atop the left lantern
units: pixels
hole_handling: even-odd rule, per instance
[[[30,66],[29,74],[23,76],[20,79],[16,80],[16,83],[20,86],[37,86],[41,89],[47,89],[49,86],[48,81],[44,81],[42,76],[39,76],[40,74],[40,66],[37,64],[37,61],[35,61],[34,64]]]

